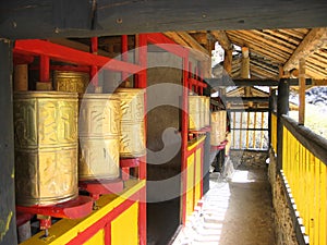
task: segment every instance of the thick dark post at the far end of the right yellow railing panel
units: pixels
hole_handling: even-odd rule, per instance
[[[287,79],[280,79],[277,98],[277,170],[282,169],[282,131],[281,115],[289,113],[290,88]]]

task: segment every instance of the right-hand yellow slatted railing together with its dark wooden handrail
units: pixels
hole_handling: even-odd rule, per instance
[[[303,220],[299,223],[303,223],[310,244],[327,245],[327,140],[287,117],[282,123],[281,175],[295,204],[292,206]],[[271,126],[276,132],[274,123]],[[276,138],[274,148],[275,144]]]

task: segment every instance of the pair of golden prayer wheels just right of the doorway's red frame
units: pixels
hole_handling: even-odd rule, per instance
[[[210,97],[189,96],[189,128],[198,131],[210,125]]]

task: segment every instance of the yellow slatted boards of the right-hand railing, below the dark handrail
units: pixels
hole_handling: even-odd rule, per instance
[[[290,185],[296,210],[303,219],[310,244],[327,245],[327,168],[320,160],[322,157],[317,156],[320,150],[308,149],[313,148],[310,147],[311,137],[304,138],[305,144],[299,140],[290,127],[283,126],[282,171]]]

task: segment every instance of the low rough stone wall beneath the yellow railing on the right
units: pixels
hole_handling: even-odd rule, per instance
[[[269,181],[272,192],[272,205],[275,209],[276,245],[298,245],[296,236],[288,207],[287,194],[282,187],[282,180],[276,172],[276,157],[269,154]]]

